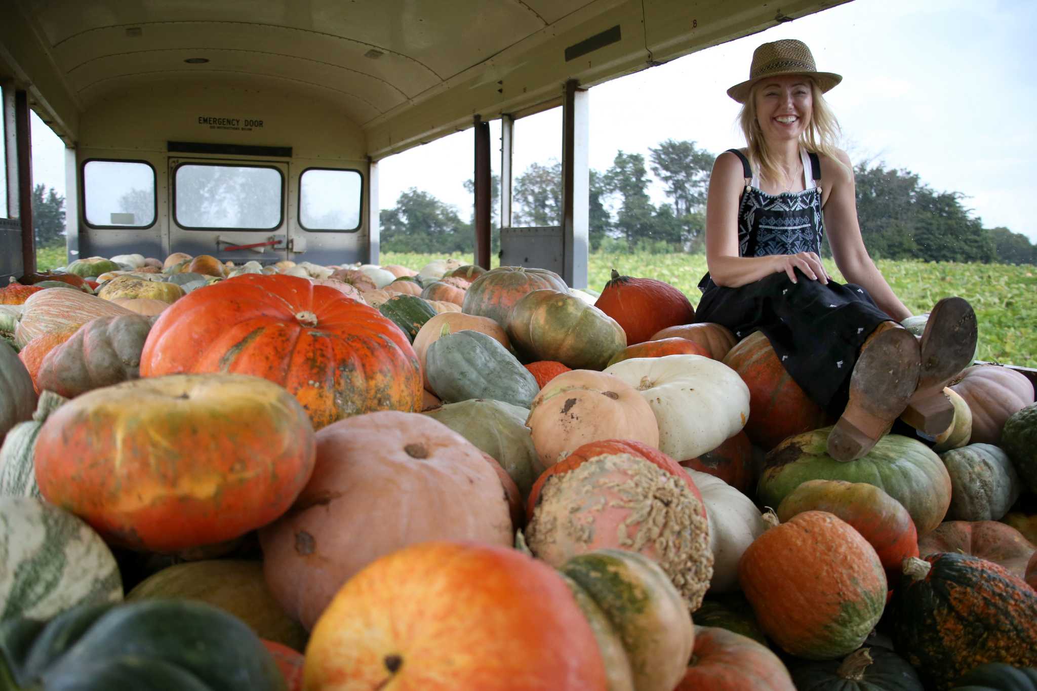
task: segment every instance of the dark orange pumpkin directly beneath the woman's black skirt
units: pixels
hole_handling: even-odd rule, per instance
[[[824,409],[789,376],[763,332],[753,332],[739,341],[728,351],[724,364],[749,386],[746,434],[763,451],[770,451],[785,437],[830,424]]]

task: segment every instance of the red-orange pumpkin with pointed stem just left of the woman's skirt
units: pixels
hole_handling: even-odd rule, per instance
[[[641,343],[660,329],[695,321],[695,308],[677,288],[655,279],[620,276],[616,269],[594,307],[619,322],[627,343]]]

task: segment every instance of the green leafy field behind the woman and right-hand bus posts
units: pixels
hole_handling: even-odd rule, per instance
[[[441,255],[383,253],[383,264],[402,264],[420,269]],[[456,257],[471,263],[472,257]],[[499,260],[493,257],[493,265]],[[948,295],[960,295],[976,310],[979,320],[979,359],[1037,367],[1037,266],[1006,264],[926,263],[922,261],[876,262],[897,296],[915,314],[928,312]],[[832,277],[843,282],[832,261],[825,262]],[[625,276],[658,279],[676,286],[693,305],[699,300],[699,279],[706,271],[704,255],[592,254],[588,263],[588,287],[601,290],[615,268]]]

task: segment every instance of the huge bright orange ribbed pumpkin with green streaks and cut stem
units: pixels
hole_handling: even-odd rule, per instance
[[[314,429],[374,410],[421,410],[421,370],[392,321],[290,276],[246,273],[195,290],[162,313],[140,374],[234,372],[287,388]]]

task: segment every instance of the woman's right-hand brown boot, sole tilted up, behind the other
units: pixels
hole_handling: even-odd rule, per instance
[[[977,338],[976,313],[964,299],[945,297],[933,306],[920,339],[918,388],[901,420],[930,436],[951,426],[954,406],[944,386],[972,363]]]

